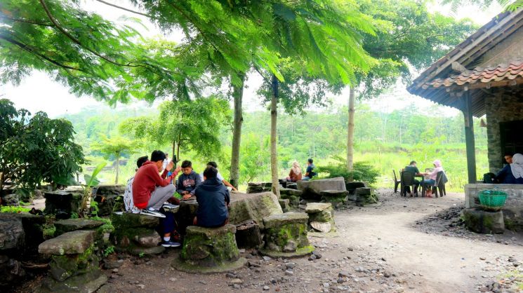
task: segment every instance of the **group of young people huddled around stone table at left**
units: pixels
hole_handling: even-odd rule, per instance
[[[194,225],[211,228],[227,224],[227,207],[230,203],[227,186],[234,191],[236,189],[223,179],[215,162],[209,162],[204,172],[198,175],[192,170],[190,161],[183,161],[181,167],[174,168],[175,163],[168,162],[163,151],[153,151],[150,160],[147,156],[140,157],[136,165],[138,169],[134,177],[128,180],[124,193],[126,212],[163,218],[162,246],[180,246],[180,243],[171,240],[171,234],[176,229],[176,220],[170,211],[180,204],[180,200],[174,196],[176,191],[184,200],[196,198],[198,210]],[[180,171],[183,174],[175,181]]]

